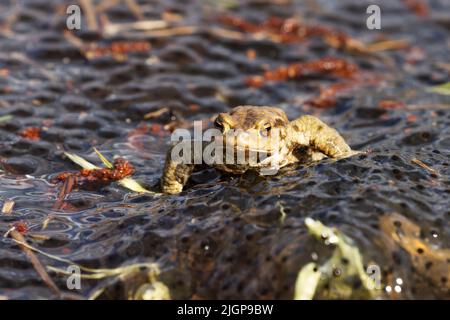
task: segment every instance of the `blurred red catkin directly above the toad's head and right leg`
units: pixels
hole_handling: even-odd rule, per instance
[[[288,79],[301,78],[311,74],[332,75],[350,78],[358,71],[355,64],[344,59],[327,57],[318,60],[294,63],[269,70],[262,76],[251,76],[246,79],[250,87],[260,87],[266,81],[285,81]]]

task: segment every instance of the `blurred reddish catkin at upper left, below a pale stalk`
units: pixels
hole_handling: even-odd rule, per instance
[[[116,58],[125,57],[129,53],[147,52],[151,45],[147,41],[115,41],[107,46],[89,44],[84,48],[84,54],[88,59],[95,59],[105,56]]]

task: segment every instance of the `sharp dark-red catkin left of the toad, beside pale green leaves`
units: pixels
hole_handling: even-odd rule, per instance
[[[66,182],[75,178],[74,184],[84,187],[100,187],[113,181],[121,180],[134,173],[131,163],[123,158],[114,160],[113,168],[81,169],[79,172],[63,172],[56,176],[54,182]],[[70,188],[71,189],[71,188]]]

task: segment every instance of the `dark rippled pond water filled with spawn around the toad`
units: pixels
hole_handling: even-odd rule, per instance
[[[87,30],[83,20],[82,30],[72,34],[85,43],[139,40],[151,46],[93,59],[64,33],[70,3],[0,4],[0,117],[12,116],[0,122],[0,208],[14,201],[12,213],[0,214],[2,235],[20,221],[28,226],[29,244],[83,266],[158,263],[173,298],[291,299],[299,269],[312,256],[323,261],[330,254],[308,235],[304,220],[311,217],[352,238],[365,263],[380,266],[383,288],[402,279],[401,292],[382,290],[383,298],[449,297],[450,96],[427,90],[450,81],[447,1],[418,1],[428,14],[407,1],[387,0],[139,1],[145,19],[163,17],[195,30],[132,30],[106,38]],[[366,27],[369,4],[382,9],[381,30]],[[223,23],[225,14],[255,24],[294,17],[365,43],[395,39],[407,45],[367,54],[320,37],[283,43]],[[136,21],[123,3],[100,16],[103,23]],[[246,82],[267,69],[329,56],[356,64],[362,78],[327,108],[305,102],[339,78],[308,76],[260,87]],[[140,195],[116,183],[75,189],[55,209],[61,185],[52,177],[78,170],[64,151],[96,164],[93,147],[110,159],[124,157],[136,168],[133,177],[158,191],[166,129],[238,105],[277,106],[290,119],[314,114],[368,154],[289,166],[265,177],[202,167],[179,195]],[[41,129],[39,139],[24,137],[32,127]],[[394,213],[418,227],[403,232],[410,241],[396,241],[400,231],[383,227],[397,221],[389,220]],[[54,297],[17,244],[0,242],[0,296]],[[417,243],[426,245],[425,255],[413,247]],[[38,256],[44,265],[67,266]],[[69,292],[65,276],[50,275]],[[83,280],[76,294],[87,298],[104,288],[101,298],[122,299],[129,287]]]

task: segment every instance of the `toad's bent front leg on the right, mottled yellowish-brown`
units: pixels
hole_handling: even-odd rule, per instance
[[[294,146],[312,147],[332,158],[356,154],[333,128],[314,116],[302,116],[288,127],[288,137]]]

